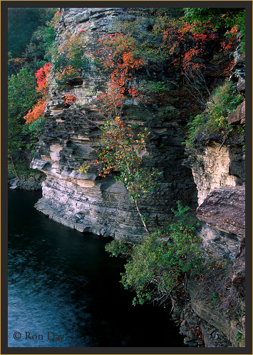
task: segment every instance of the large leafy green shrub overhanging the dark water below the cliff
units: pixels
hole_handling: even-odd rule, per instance
[[[178,207],[175,213],[185,218],[188,208],[180,203]],[[131,259],[121,274],[125,289],[136,292],[133,304],[163,302],[182,284],[185,275],[197,273],[202,265],[199,243],[194,228],[179,219],[133,246]]]

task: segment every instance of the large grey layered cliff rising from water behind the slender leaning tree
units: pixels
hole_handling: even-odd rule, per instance
[[[105,31],[112,31],[113,21],[122,15],[122,11],[65,9],[58,25],[56,43],[64,44],[68,33],[86,31],[86,51],[93,53],[98,37]],[[143,15],[143,11],[129,12],[125,16],[136,18]],[[101,179],[93,164],[97,158],[95,150],[100,146],[99,126],[103,124],[96,108],[96,97],[107,81],[108,76],[92,65],[83,73],[82,79],[73,82],[71,89],[60,91],[51,75],[51,99],[46,108],[48,121],[31,163],[33,168],[46,174],[43,197],[36,208],[78,231],[133,240],[145,230],[128,192],[113,177]],[[140,72],[135,81],[145,89],[147,74]],[[74,109],[64,106],[66,94],[78,96]],[[162,121],[160,115],[165,109],[173,107],[160,105],[158,110],[155,104],[150,104],[147,108],[133,99],[129,99],[123,109],[126,122],[148,127],[151,139],[145,152],[146,164],[162,171],[158,188],[140,200],[140,210],[148,215],[151,231],[170,219],[170,209],[177,200],[196,206],[196,189],[190,168],[182,166],[183,123],[180,119]],[[83,162],[91,165],[87,174],[77,171]]]

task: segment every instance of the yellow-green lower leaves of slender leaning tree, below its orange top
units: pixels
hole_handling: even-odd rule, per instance
[[[145,151],[145,142],[149,132],[144,129],[138,133],[131,126],[123,124],[118,117],[115,121],[106,121],[103,131],[103,148],[98,157],[103,161],[103,174],[115,174],[117,181],[123,182],[128,189],[130,199],[136,201],[141,194],[147,194],[155,186],[158,169],[142,166],[141,154]]]

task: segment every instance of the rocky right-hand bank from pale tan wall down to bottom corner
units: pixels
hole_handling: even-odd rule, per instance
[[[229,124],[244,124],[245,102],[228,120]],[[227,341],[230,345],[223,346],[245,346],[245,157],[241,138],[225,140],[214,136],[204,144],[196,138],[197,147],[187,161],[198,190],[197,218],[202,221],[198,234],[205,256],[230,265],[227,274],[219,274],[214,265],[212,274],[204,272],[203,280],[187,284],[202,339],[205,346],[212,347]],[[228,315],[226,309],[232,307],[234,311]]]

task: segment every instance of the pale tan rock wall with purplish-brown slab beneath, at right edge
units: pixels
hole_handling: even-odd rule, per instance
[[[245,152],[242,138],[197,146],[187,163],[197,186],[197,218],[205,250],[234,260],[245,235]]]

